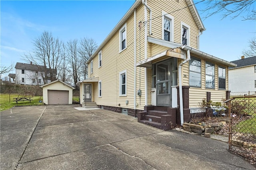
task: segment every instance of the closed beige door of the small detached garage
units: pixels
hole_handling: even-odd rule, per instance
[[[48,90],[48,104],[68,104],[68,91]]]

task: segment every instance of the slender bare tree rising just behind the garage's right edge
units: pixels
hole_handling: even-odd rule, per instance
[[[68,41],[66,45],[67,58],[70,63],[70,69],[72,69],[72,77],[74,84],[80,81],[80,58],[78,56],[78,42],[77,39]]]

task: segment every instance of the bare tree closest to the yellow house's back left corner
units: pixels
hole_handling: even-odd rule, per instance
[[[98,45],[94,39],[87,37],[80,39],[80,47],[78,49],[78,53],[81,58],[82,76],[84,79],[86,79],[88,75],[88,66],[86,62],[93,55],[97,48]]]

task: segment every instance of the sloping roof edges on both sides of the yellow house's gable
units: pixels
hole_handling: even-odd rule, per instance
[[[156,1],[157,2],[157,1]],[[200,30],[200,32],[206,30],[204,28],[204,25],[202,23],[202,20],[196,10],[196,7],[194,5],[193,0],[186,0],[186,3],[188,5],[188,8],[192,14],[192,17],[194,18],[196,25],[198,27],[198,29]],[[93,53],[93,55],[88,59],[88,61],[86,62],[86,64],[90,63],[90,61],[100,52],[100,50],[102,49],[102,47],[104,47],[104,45],[106,45],[106,43],[108,43],[108,41],[112,38],[112,36],[124,25],[124,23],[128,20],[128,18],[133,15],[134,12],[134,8],[137,8],[138,6],[140,6],[140,4],[142,4],[142,0],[136,0],[134,2],[134,4],[132,5],[132,7],[128,10],[128,12],[126,12],[126,14],[123,16],[123,18],[117,23],[117,25],[114,27],[114,29],[112,29],[112,31],[108,34],[108,36],[106,37],[106,39],[104,39],[104,41],[100,44],[100,46],[98,47],[98,49]]]

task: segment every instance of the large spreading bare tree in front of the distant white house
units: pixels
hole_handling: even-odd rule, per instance
[[[56,80],[60,73],[59,68],[62,61],[62,41],[54,38],[52,33],[44,31],[33,41],[33,45],[33,51],[23,56],[24,61],[32,61],[36,64],[44,83],[47,83],[48,79]]]

